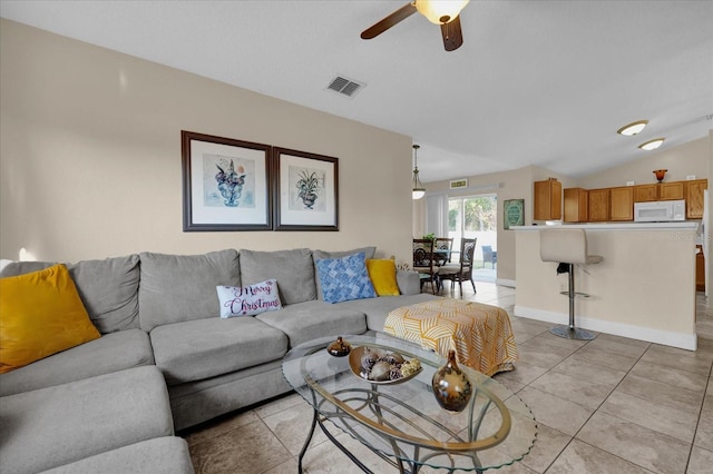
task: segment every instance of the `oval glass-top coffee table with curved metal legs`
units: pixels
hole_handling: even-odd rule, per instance
[[[328,421],[401,473],[417,473],[422,466],[480,473],[520,461],[533,447],[535,417],[517,395],[492,378],[459,365],[470,379],[472,396],[462,412],[448,412],[431,387],[433,374],[446,364],[440,355],[381,333],[344,336],[352,350],[367,346],[394,352],[418,359],[422,367],[404,382],[374,383],[352,371],[349,356],[328,353],[334,339],[296,346],[282,363],[287,382],[314,409],[300,453],[300,473],[316,425],[362,471],[371,472],[330,433]]]

